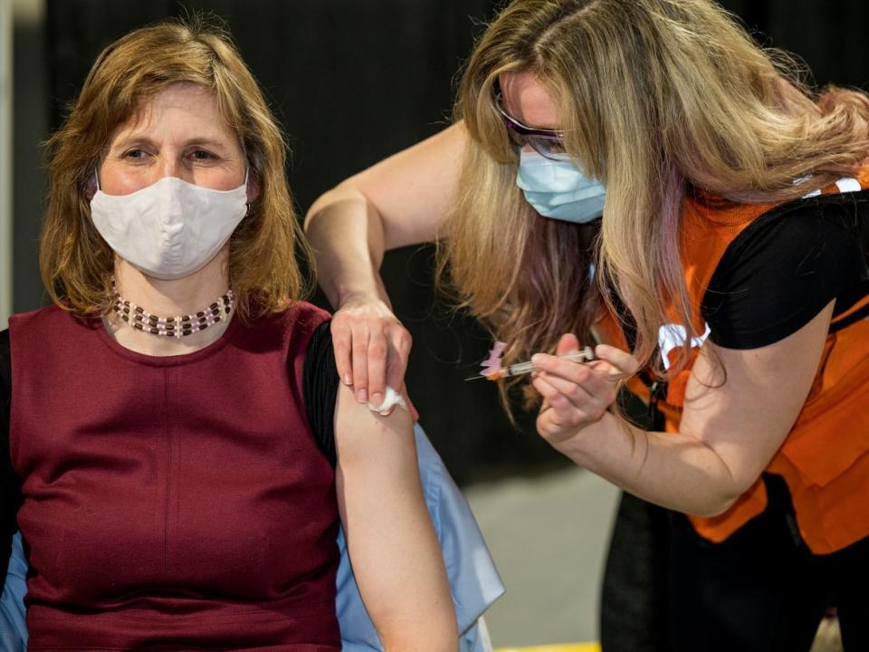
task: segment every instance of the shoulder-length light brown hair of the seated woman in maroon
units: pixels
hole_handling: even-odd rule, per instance
[[[259,196],[230,239],[229,276],[244,320],[300,298],[310,261],[292,207],[286,145],[253,75],[221,26],[194,16],[130,32],[100,53],[69,116],[46,143],[48,206],[40,236],[43,283],[76,315],[110,309],[114,254],[91,222],[88,185],[110,136],[179,82],[210,91],[237,134]]]

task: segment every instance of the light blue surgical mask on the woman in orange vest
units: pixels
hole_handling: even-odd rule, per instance
[[[606,189],[586,177],[570,160],[544,158],[522,151],[516,185],[541,216],[586,224],[604,210]]]

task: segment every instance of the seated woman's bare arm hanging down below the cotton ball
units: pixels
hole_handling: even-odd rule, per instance
[[[380,416],[341,386],[335,442],[350,563],[384,649],[458,649],[453,601],[423,498],[410,415],[396,409]]]

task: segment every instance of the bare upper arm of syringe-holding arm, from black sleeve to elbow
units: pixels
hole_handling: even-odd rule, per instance
[[[734,497],[757,480],[797,420],[821,361],[834,304],[767,346],[726,349],[709,340],[703,345],[679,429],[721,457]]]

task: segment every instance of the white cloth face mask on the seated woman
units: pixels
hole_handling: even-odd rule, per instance
[[[234,190],[211,190],[177,177],[129,195],[91,199],[97,231],[121,258],[159,279],[179,279],[215,257],[247,213],[247,175]]]

